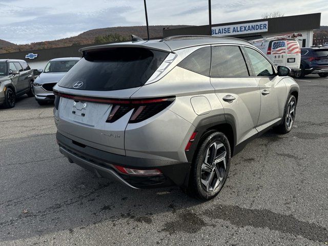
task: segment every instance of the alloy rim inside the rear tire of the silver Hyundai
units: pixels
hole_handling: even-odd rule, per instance
[[[202,188],[214,191],[223,180],[227,168],[227,150],[220,141],[214,142],[206,151],[201,165],[200,179]]]

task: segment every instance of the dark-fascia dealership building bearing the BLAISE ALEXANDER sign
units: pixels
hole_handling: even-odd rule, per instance
[[[320,28],[321,13],[283,16],[267,19],[252,19],[242,22],[231,22],[209,25],[184,27],[163,30],[163,36],[174,35],[212,35],[229,36],[246,40],[262,37],[281,36],[300,33],[297,37],[300,47],[313,45],[313,30]]]

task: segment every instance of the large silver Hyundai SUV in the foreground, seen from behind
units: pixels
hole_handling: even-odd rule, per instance
[[[174,36],[80,52],[54,87],[56,138],[69,162],[98,177],[207,200],[248,141],[292,129],[290,69],[243,40]]]

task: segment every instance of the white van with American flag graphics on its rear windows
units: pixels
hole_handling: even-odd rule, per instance
[[[295,71],[300,67],[301,49],[293,37],[268,37],[251,40],[250,43],[266,54],[276,67],[285,66]]]

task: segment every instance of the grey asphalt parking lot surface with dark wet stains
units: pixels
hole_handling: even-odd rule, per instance
[[[69,163],[51,105],[23,97],[0,109],[0,245],[328,244],[328,78],[297,82],[292,132],[253,140],[208,202]]]

